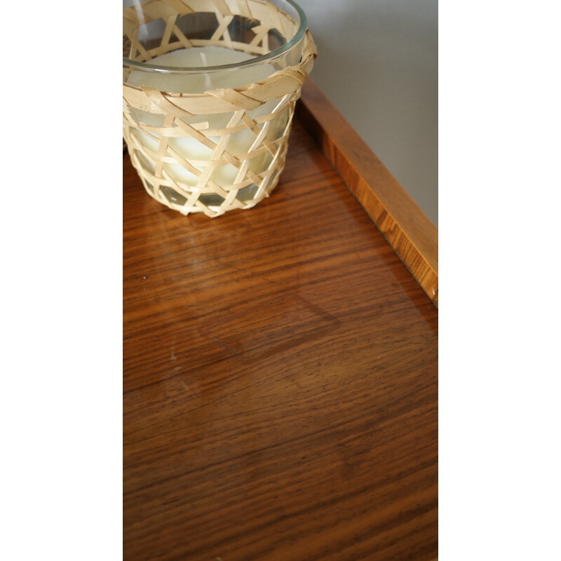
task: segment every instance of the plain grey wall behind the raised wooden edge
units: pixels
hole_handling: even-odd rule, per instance
[[[438,0],[296,0],[311,76],[438,226]]]

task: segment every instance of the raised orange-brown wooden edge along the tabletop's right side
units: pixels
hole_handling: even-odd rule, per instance
[[[438,229],[312,79],[296,116],[438,308]]]

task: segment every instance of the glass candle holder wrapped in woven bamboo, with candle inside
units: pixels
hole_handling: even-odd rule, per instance
[[[292,0],[123,0],[123,137],[147,193],[209,217],[269,196],[316,55]]]

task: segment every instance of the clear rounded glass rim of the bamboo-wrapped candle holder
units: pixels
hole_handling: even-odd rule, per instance
[[[250,58],[249,60],[242,60],[241,62],[231,62],[228,65],[218,65],[218,66],[204,66],[204,67],[175,67],[175,66],[161,66],[161,65],[151,65],[149,62],[138,62],[137,60],[131,60],[130,58],[123,57],[123,66],[127,66],[133,69],[139,70],[146,70],[148,72],[161,72],[163,74],[203,74],[207,72],[217,72],[220,70],[233,70],[236,68],[245,68],[250,66],[259,65],[262,62],[267,62],[268,60],[272,60],[283,53],[286,53],[292,47],[297,45],[306,32],[308,27],[308,21],[306,19],[306,14],[304,10],[294,1],[294,0],[283,0],[288,2],[298,13],[300,18],[298,31],[295,33],[295,36],[287,41],[284,45],[276,48],[275,50],[271,50],[270,53],[266,53],[266,55],[259,55],[255,58]]]

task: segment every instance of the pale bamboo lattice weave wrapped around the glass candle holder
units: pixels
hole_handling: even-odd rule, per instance
[[[273,32],[290,38],[297,29],[289,15],[262,0],[148,0],[141,6],[142,13],[135,7],[123,10],[123,52],[137,62],[193,46],[259,56],[270,52]],[[201,13],[212,15],[216,28],[210,38],[188,39],[180,18]],[[251,22],[246,43],[231,37],[235,17]],[[163,28],[156,45],[139,40],[140,27],[149,22]],[[280,67],[266,79],[203,93],[134,86],[126,81],[130,68],[125,67],[123,137],[148,194],[184,215],[204,212],[209,217],[251,208],[269,196],[284,168],[295,104],[317,55],[309,31],[299,48],[297,64]],[[231,142],[234,138],[244,141]],[[186,140],[200,145],[191,156],[181,149]]]

